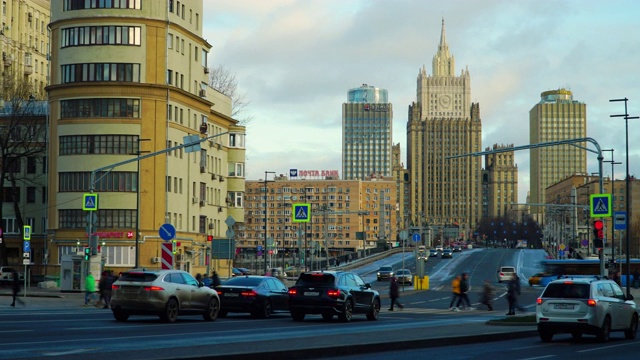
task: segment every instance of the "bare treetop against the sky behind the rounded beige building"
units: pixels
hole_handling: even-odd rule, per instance
[[[209,86],[231,98],[231,117],[240,121],[240,124],[246,126],[253,120],[253,116],[245,113],[250,101],[245,93],[238,91],[235,73],[231,73],[224,65],[209,68]]]

